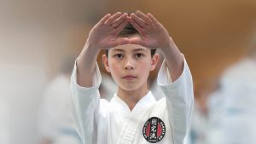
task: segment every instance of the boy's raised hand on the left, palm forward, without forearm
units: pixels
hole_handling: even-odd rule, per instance
[[[128,23],[128,14],[107,14],[94,26],[87,39],[87,44],[96,49],[109,49],[129,43],[125,37],[117,37]]]

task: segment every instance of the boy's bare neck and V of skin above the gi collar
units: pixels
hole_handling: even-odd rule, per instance
[[[143,87],[134,90],[125,90],[119,87],[117,94],[123,101],[125,101],[130,110],[132,110],[137,102],[140,101],[143,96],[148,94],[148,86],[144,85]]]

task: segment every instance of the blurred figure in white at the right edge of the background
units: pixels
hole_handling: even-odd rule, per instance
[[[256,46],[227,68],[209,103],[207,144],[256,142]]]

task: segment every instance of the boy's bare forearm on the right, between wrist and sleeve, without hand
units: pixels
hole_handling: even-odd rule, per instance
[[[161,48],[161,50],[165,57],[166,65],[170,72],[172,82],[174,82],[183,72],[183,55],[180,53],[179,49],[177,49],[176,44],[172,41],[172,37],[170,38],[170,43],[166,46],[166,48]]]

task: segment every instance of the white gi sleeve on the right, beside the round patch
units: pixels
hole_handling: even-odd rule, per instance
[[[157,79],[160,88],[166,95],[166,109],[172,126],[174,144],[183,144],[184,137],[189,130],[194,105],[192,76],[184,58],[183,61],[183,72],[175,82],[172,82],[165,60],[160,67]]]

